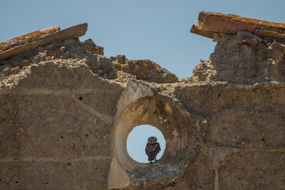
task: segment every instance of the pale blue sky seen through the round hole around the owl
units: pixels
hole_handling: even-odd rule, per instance
[[[156,159],[158,160],[162,157],[166,144],[162,132],[152,125],[139,125],[133,128],[127,139],[127,151],[132,159],[140,163],[150,163],[145,153],[145,146],[149,137],[157,138],[161,150],[157,154]]]

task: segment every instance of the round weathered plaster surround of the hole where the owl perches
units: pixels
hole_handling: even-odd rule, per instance
[[[145,159],[142,163],[135,161],[127,150],[130,132],[140,125],[155,126],[167,141],[163,156],[155,163],[145,164]],[[185,169],[189,159],[195,157],[197,142],[202,140],[204,134],[204,125],[205,122],[199,117],[190,115],[165,98],[141,97],[125,107],[115,121],[115,157],[125,171],[138,179],[164,179]],[[155,134],[147,134],[142,148],[136,148],[144,152],[148,137],[153,136]]]

